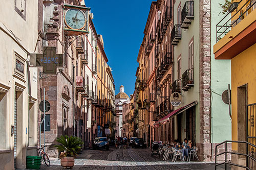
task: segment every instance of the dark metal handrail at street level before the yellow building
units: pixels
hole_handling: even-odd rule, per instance
[[[243,154],[243,153],[236,153],[236,152],[230,152],[230,151],[227,151],[227,143],[245,143],[245,146],[246,146],[246,153]],[[222,144],[225,144],[225,151],[220,153],[220,154],[217,154],[217,149],[220,145]],[[253,148],[254,150],[254,155],[252,154],[249,154],[249,146],[250,148]],[[233,165],[233,166],[237,166],[237,167],[243,167],[245,169],[249,169],[249,170],[253,170],[253,169],[256,169],[256,157],[255,157],[255,152],[256,152],[256,145],[254,144],[251,144],[247,141],[234,141],[234,140],[226,140],[224,142],[221,142],[219,144],[216,145],[215,147],[215,169],[217,169],[217,166],[219,165],[223,165],[225,164],[225,169],[227,169],[227,165]],[[220,155],[223,155],[225,154],[225,162],[220,162],[220,163],[217,163],[217,157],[220,156]],[[240,165],[240,164],[236,164],[236,163],[232,163],[232,162],[229,162],[227,161],[227,154],[234,154],[234,155],[240,155],[240,156],[245,156],[246,157],[246,165]],[[251,162],[251,164],[249,164],[249,162]]]

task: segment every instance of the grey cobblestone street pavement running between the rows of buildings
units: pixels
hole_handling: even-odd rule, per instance
[[[59,160],[51,160],[51,166],[42,169],[64,169]],[[73,169],[214,169],[212,162],[171,162],[162,157],[151,157],[150,149],[110,148],[109,151],[85,150],[75,160]],[[219,168],[223,169],[223,168]]]

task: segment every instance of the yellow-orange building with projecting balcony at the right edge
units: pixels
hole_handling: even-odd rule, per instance
[[[236,2],[231,18],[227,15],[216,27],[214,54],[217,60],[231,60],[232,140],[256,145],[256,1]],[[245,153],[246,145],[232,142],[232,150]],[[248,145],[248,155],[255,158],[255,151]],[[246,165],[246,159],[234,155],[232,163]],[[255,169],[256,162],[248,158],[247,167]]]

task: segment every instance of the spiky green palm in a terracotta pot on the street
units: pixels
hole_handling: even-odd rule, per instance
[[[60,152],[59,159],[60,164],[63,167],[73,167],[75,163],[75,157],[81,149],[83,144],[82,140],[79,137],[75,136],[60,136],[56,140],[60,144],[55,145]]]

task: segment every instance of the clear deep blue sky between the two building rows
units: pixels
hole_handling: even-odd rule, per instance
[[[135,87],[136,61],[151,0],[85,0],[94,15],[97,34],[104,40],[104,50],[113,69],[116,94],[119,86],[130,96]]]

